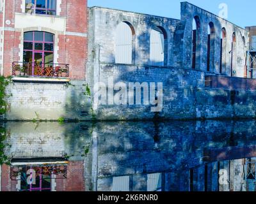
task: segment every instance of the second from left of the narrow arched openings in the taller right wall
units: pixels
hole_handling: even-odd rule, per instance
[[[207,35],[207,71],[214,67],[214,24],[209,23]]]

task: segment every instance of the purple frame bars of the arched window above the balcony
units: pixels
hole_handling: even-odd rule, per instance
[[[35,53],[42,53],[42,68],[44,68],[44,56],[45,56],[45,52],[46,53],[52,53],[54,54],[54,34],[52,33],[49,33],[49,34],[52,34],[52,42],[51,41],[45,41],[45,33],[47,32],[42,32],[44,33],[44,40],[43,41],[36,41],[35,40],[35,32],[42,32],[42,31],[29,31],[29,32],[26,32],[26,33],[33,33],[33,40],[24,40],[24,43],[33,43],[33,48],[32,50],[28,50],[28,49],[24,49],[23,51],[26,51],[26,52],[32,52],[32,75],[34,75],[34,69],[35,69]],[[24,33],[25,34],[25,33]],[[42,50],[36,50],[35,49],[35,43],[42,43],[43,44],[43,47],[42,47]],[[49,44],[52,44],[52,47],[53,47],[53,50],[52,51],[48,51],[48,50],[45,50],[45,43],[49,43]],[[53,64],[53,62],[52,62]]]

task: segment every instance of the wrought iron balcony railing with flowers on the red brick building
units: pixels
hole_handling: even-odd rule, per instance
[[[12,75],[15,77],[68,78],[69,64],[36,64],[33,62],[13,62]]]

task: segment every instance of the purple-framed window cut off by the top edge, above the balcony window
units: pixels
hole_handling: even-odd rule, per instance
[[[56,0],[26,0],[26,13],[56,15]]]

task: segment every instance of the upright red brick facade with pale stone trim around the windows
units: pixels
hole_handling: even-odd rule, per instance
[[[70,78],[84,80],[88,52],[87,0],[56,1],[60,4],[57,3],[57,16],[52,17],[65,18],[66,25],[65,31],[56,31],[54,33],[58,39],[54,44],[54,49],[57,50],[56,54],[58,55],[54,63],[69,64]],[[28,28],[17,29],[15,19],[19,18],[19,14],[28,15],[24,13],[25,8],[22,9],[22,6],[25,6],[25,0],[8,0],[5,2],[5,12],[2,11],[0,13],[0,24],[3,22],[4,16],[3,74],[7,77],[12,75],[12,62],[22,61],[20,58],[23,50],[20,50],[20,47],[22,47],[20,45],[23,43],[21,39],[24,30],[38,31],[38,28],[40,28],[39,31],[49,31],[47,27],[40,24],[36,25],[38,26],[37,28],[34,26],[29,27],[28,25]],[[33,14],[33,17],[35,16]],[[40,18],[42,17],[44,15],[40,15]]]

